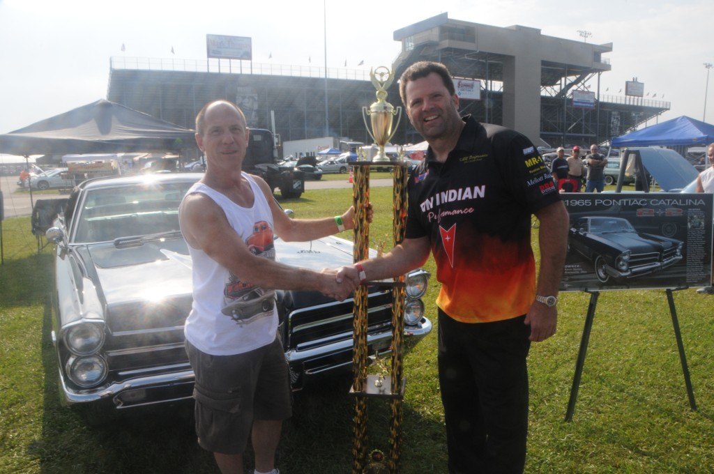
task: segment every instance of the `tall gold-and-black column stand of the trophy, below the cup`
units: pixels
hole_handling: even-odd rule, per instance
[[[406,233],[406,185],[408,172],[404,161],[391,163],[373,163],[357,161],[353,164],[353,204],[354,216],[354,261],[368,258],[369,226],[367,205],[369,203],[369,168],[370,166],[394,167],[394,206],[393,238],[398,245]],[[398,474],[401,463],[401,422],[402,400],[404,397],[403,379],[403,333],[404,333],[404,276],[394,278],[392,286],[392,363],[391,375],[367,375],[367,329],[368,329],[368,288],[359,286],[354,296],[354,342],[353,342],[353,381],[350,393],[355,396],[354,428],[352,442],[353,474]],[[382,463],[383,455],[375,450],[371,453],[373,463],[367,465],[367,398],[389,400],[391,410],[389,455],[386,469]]]

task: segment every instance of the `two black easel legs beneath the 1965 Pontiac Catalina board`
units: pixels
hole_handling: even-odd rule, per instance
[[[680,290],[683,288],[674,288]],[[684,373],[684,383],[687,386],[687,395],[689,396],[689,406],[693,411],[697,410],[697,404],[694,400],[694,390],[692,389],[692,381],[689,377],[689,368],[687,365],[687,357],[684,353],[684,344],[682,343],[682,333],[679,329],[679,320],[677,318],[677,308],[675,308],[674,298],[672,296],[672,288],[667,288],[667,301],[669,303],[670,314],[672,315],[672,325],[674,326],[674,334],[677,339],[677,347],[679,349],[679,358],[682,363],[682,372]],[[573,421],[573,413],[575,412],[575,400],[578,398],[578,388],[580,388],[580,376],[583,375],[583,367],[585,366],[585,353],[588,352],[588,341],[590,341],[590,330],[593,328],[593,319],[595,319],[595,308],[598,306],[599,291],[590,293],[590,303],[588,304],[588,314],[585,316],[585,327],[583,328],[583,337],[580,339],[580,351],[578,351],[578,360],[575,362],[575,375],[573,375],[573,386],[570,388],[570,400],[568,400],[568,411],[565,413],[565,421]]]

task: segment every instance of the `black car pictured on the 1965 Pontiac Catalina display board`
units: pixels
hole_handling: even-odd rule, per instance
[[[661,271],[682,260],[684,243],[638,232],[627,219],[578,218],[570,227],[568,247],[595,267],[600,283],[623,281]]]

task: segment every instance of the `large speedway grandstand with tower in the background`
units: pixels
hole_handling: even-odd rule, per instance
[[[612,44],[475,24],[446,13],[394,31],[394,39],[401,41],[394,63],[373,67],[391,66],[399,76],[414,61],[441,61],[454,76],[480,81],[481,100],[462,100],[463,114],[516,128],[538,145],[606,143],[670,108],[665,101],[599,90],[600,75],[611,69],[603,55]],[[591,108],[573,106],[573,91],[590,93]],[[397,81],[388,93],[391,104],[402,105]],[[371,138],[362,108],[376,100],[368,70],[124,56],[111,59],[107,99],[188,128],[203,104],[228,99],[241,106],[248,126],[274,130],[281,141],[338,136],[366,143]],[[421,141],[406,115],[392,141]]]

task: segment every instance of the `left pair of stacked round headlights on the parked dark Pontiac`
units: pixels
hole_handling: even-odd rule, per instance
[[[80,387],[98,385],[109,372],[99,354],[104,346],[104,323],[83,319],[64,330],[64,345],[71,352],[65,363],[69,380]]]

